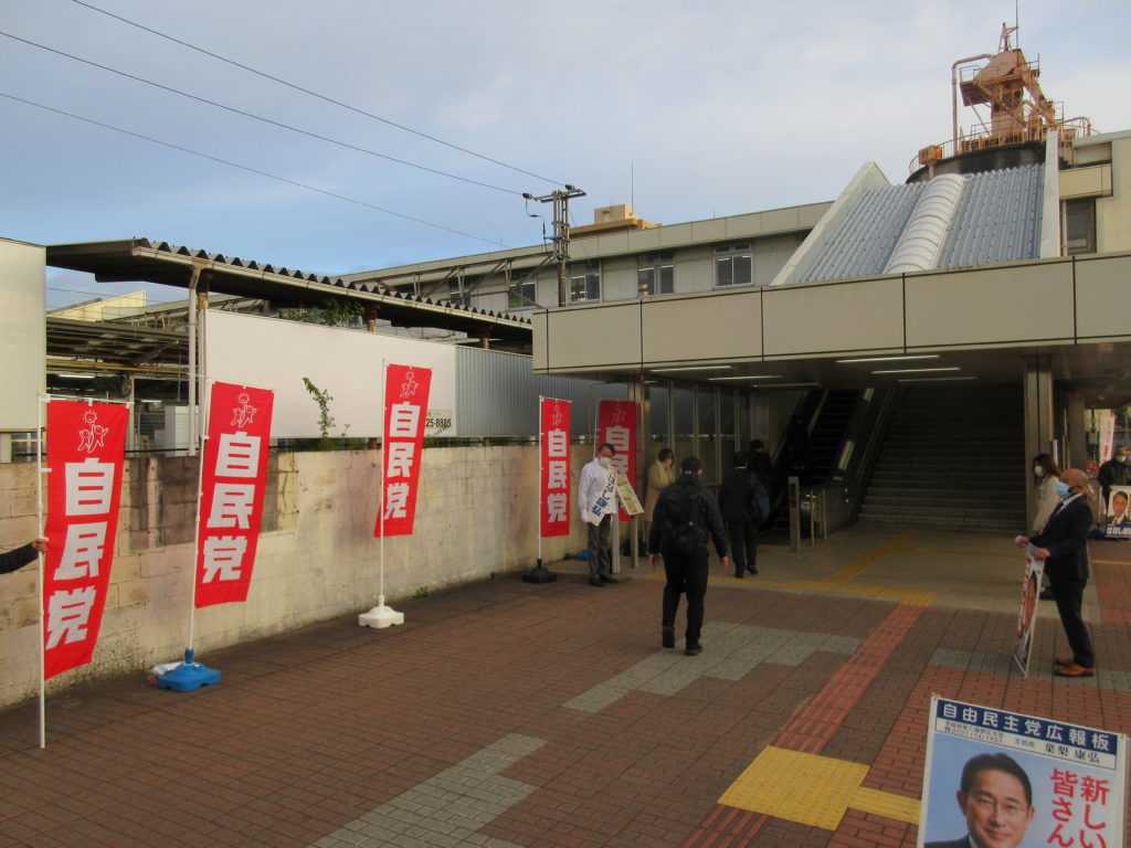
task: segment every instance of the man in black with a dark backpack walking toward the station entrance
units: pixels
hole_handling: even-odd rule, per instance
[[[703,596],[707,594],[707,540],[715,540],[715,550],[723,560],[723,568],[731,566],[726,557],[726,533],[718,504],[702,484],[702,464],[696,457],[680,462],[675,483],[659,493],[648,534],[648,564],[656,568],[656,554],[664,557],[664,613],[662,644],[675,647],[675,612],[680,595],[688,596],[688,629],[683,652],[694,657],[702,652],[699,634],[703,624]]]

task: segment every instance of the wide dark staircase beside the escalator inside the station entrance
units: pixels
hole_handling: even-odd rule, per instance
[[[1027,468],[1020,387],[907,389],[858,521],[1025,533]]]

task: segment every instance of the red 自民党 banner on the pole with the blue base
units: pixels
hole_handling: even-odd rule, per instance
[[[268,389],[211,387],[197,518],[198,608],[248,599],[264,514],[274,400]]]

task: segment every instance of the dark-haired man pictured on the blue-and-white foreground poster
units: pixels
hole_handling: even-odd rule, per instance
[[[1009,754],[978,754],[962,767],[958,808],[966,836],[926,848],[1017,848],[1033,821],[1033,785]]]

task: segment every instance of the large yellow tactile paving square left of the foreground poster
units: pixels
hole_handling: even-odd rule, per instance
[[[867,767],[860,763],[770,746],[718,803],[836,830],[866,775]]]

